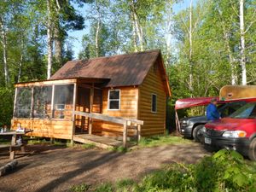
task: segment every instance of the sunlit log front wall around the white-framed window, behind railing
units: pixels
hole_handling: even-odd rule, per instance
[[[113,90],[120,90],[120,108],[119,110],[108,110],[108,90],[103,89],[102,92],[102,114],[137,119],[137,87],[119,87]],[[117,125],[108,122],[102,122],[102,135],[111,137],[122,137],[123,125]],[[133,136],[134,131],[128,130],[128,137]]]

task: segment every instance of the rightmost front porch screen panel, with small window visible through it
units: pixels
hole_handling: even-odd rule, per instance
[[[73,84],[55,85],[54,118],[72,119]]]

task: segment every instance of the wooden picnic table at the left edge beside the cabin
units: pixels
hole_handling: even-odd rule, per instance
[[[22,137],[25,136],[28,132],[32,132],[32,130],[0,132],[0,137],[11,136],[11,143],[9,145],[0,145],[0,148],[9,148],[9,159],[15,159],[15,151],[17,148],[21,149],[21,153],[25,153],[26,143],[17,143],[17,138],[19,137],[21,138],[21,141],[23,141]]]

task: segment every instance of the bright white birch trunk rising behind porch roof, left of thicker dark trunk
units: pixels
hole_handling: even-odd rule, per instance
[[[47,79],[50,78],[51,76],[51,67],[52,67],[52,48],[53,48],[53,39],[52,39],[52,18],[51,18],[51,8],[50,8],[50,0],[47,0],[47,15],[48,15],[48,20],[47,20],[47,52],[48,52],[48,57],[47,57]]]

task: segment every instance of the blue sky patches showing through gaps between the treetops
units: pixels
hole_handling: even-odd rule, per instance
[[[194,4],[197,0],[194,0]],[[190,0],[183,0],[181,3],[177,3],[174,5],[173,10],[174,13],[179,12],[180,10],[186,9],[189,7]],[[89,6],[84,5],[83,8],[79,8],[77,6],[74,6],[75,9],[79,11],[81,15],[86,16],[86,13],[88,12]],[[68,32],[68,38],[71,44],[73,44],[73,52],[74,52],[74,59],[78,59],[79,51],[82,49],[82,38],[84,34],[87,34],[89,32],[89,23],[85,22],[85,27],[83,30],[80,31],[70,31]]]

